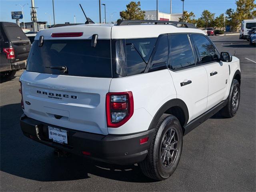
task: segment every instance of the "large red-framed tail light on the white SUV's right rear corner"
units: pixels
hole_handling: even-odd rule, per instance
[[[107,93],[106,117],[108,127],[124,125],[133,115],[134,103],[132,91]]]

